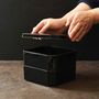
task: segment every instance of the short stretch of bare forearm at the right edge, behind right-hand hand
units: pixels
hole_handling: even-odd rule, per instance
[[[90,12],[94,16],[94,23],[99,23],[99,8],[91,9]]]

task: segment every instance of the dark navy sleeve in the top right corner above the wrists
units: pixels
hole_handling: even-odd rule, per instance
[[[99,7],[99,0],[79,0],[78,3],[80,2],[85,2],[88,6],[90,6],[90,8],[98,8]]]

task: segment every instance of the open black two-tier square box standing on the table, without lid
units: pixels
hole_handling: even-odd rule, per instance
[[[24,79],[56,86],[76,78],[76,53],[55,46],[38,46],[23,51]]]

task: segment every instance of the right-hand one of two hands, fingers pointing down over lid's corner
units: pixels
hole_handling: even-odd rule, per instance
[[[66,26],[69,26],[68,35],[73,42],[79,42],[94,24],[94,15],[90,10],[70,13],[66,20]]]

